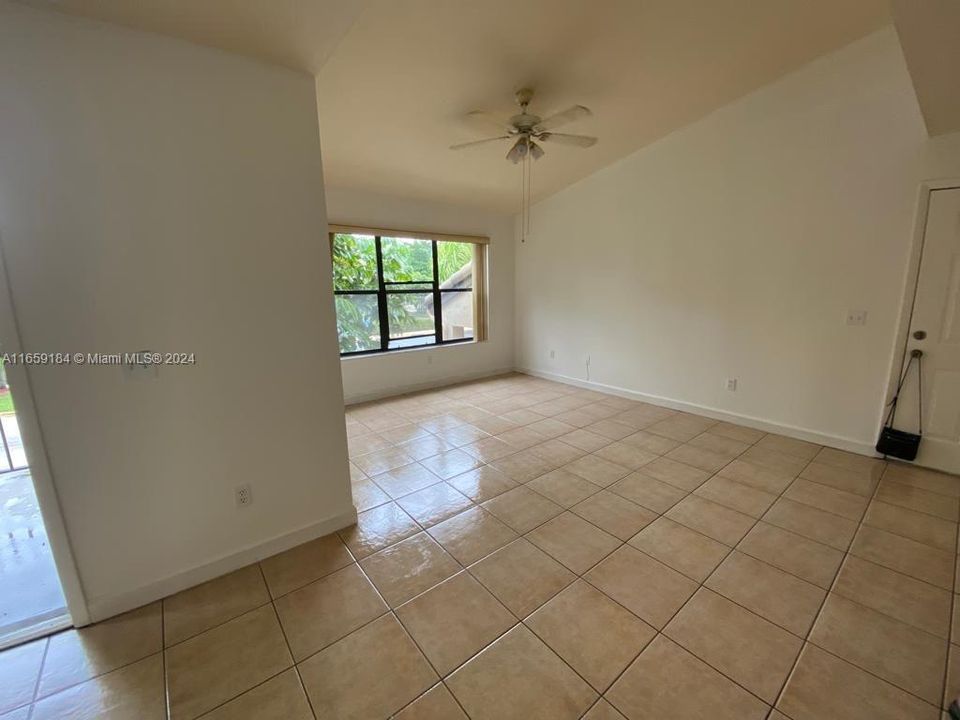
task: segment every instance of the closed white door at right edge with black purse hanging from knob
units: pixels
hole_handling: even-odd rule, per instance
[[[933,190],[907,353],[923,351],[923,440],[917,464],[960,473],[960,188]],[[917,428],[916,361],[896,427]]]

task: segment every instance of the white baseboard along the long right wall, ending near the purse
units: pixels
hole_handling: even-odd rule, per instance
[[[787,437],[796,438],[797,440],[806,440],[818,445],[826,445],[828,447],[837,448],[838,450],[847,450],[849,452],[857,453],[858,455],[880,457],[877,455],[876,450],[874,450],[872,443],[854,440],[853,438],[842,437],[839,435],[827,435],[825,433],[817,432],[816,430],[809,430],[807,428],[797,427],[795,425],[785,425],[773,420],[753,417],[751,415],[740,415],[727,410],[720,410],[719,408],[698,405],[696,403],[690,403],[683,400],[674,400],[673,398],[665,398],[659,395],[649,395],[647,393],[637,392],[636,390],[628,390],[626,388],[617,387],[616,385],[605,385],[603,383],[593,382],[591,380],[581,380],[579,378],[547,372],[545,370],[518,367],[516,368],[516,371],[525,373],[527,375],[544,378],[545,380],[555,380],[556,382],[561,382],[565,385],[574,385],[586,390],[596,390],[597,392],[606,393],[608,395],[616,395],[617,397],[627,398],[628,400],[639,400],[651,405],[670,408],[671,410],[682,410],[695,415],[703,415],[705,417],[713,418],[714,420],[726,420],[728,422],[737,423],[738,425],[745,425],[746,427],[754,428],[755,430],[778,433],[780,435],[786,435]]]

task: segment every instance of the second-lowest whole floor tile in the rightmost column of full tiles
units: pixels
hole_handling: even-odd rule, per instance
[[[942,638],[950,635],[951,593],[882,565],[848,555],[833,592]]]

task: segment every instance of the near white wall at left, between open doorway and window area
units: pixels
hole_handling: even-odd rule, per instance
[[[94,618],[345,525],[313,79],[0,3],[0,98],[25,349],[197,358],[30,371]]]

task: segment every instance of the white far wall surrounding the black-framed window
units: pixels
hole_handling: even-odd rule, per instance
[[[513,368],[513,222],[471,208],[407,200],[357,190],[327,188],[331,223],[398,230],[486,235],[488,338],[442,348],[344,358],[347,402],[455,382]]]

